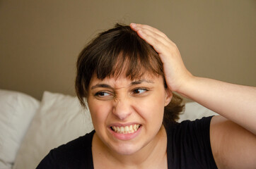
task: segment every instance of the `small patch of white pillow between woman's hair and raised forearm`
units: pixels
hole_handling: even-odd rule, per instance
[[[200,104],[197,104],[197,102],[189,102],[185,104],[185,111],[180,115],[178,122],[182,122],[183,120],[196,120],[211,115],[218,114]]]

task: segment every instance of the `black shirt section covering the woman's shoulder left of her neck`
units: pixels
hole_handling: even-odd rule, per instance
[[[52,149],[45,158],[42,159],[37,168],[76,168],[76,165],[91,163],[91,141],[94,131],[82,137],[78,137],[71,142]],[[84,159],[87,159],[85,161]]]

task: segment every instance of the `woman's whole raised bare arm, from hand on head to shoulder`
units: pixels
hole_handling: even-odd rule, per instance
[[[195,77],[185,68],[178,47],[163,32],[149,25],[130,26],[158,52],[169,90],[220,114],[212,118],[210,126],[218,168],[255,168],[256,87]]]

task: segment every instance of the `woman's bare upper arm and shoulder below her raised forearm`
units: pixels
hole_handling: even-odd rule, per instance
[[[256,165],[256,136],[223,118],[211,121],[211,149],[219,168],[251,168]]]

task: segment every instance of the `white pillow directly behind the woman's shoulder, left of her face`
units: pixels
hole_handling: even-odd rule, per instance
[[[91,115],[76,97],[45,92],[13,168],[34,169],[51,149],[91,130]]]

